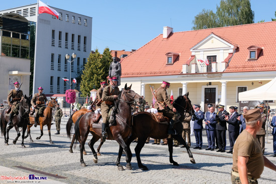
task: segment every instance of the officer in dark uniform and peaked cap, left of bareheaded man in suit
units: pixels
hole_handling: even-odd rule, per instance
[[[218,150],[217,152],[225,152],[226,146],[226,120],[225,117],[229,116],[229,113],[224,110],[224,105],[218,106],[218,112],[216,115],[216,132],[217,132],[217,139],[218,139]]]

